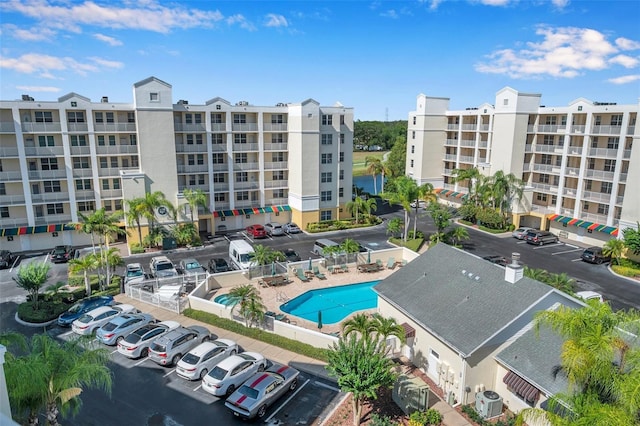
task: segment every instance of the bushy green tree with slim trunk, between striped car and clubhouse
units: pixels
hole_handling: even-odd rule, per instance
[[[366,399],[375,399],[378,389],[395,381],[393,362],[379,350],[378,342],[356,335],[340,338],[329,350],[328,358],[329,374],[338,380],[343,392],[353,395],[353,424],[358,426]]]

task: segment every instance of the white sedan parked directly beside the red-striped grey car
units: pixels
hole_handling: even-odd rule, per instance
[[[220,361],[202,378],[202,389],[216,396],[231,395],[245,380],[264,371],[267,360],[256,352],[242,352]]]

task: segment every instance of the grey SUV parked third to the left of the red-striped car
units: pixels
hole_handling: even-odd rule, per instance
[[[176,365],[183,354],[210,338],[209,330],[199,325],[176,328],[151,343],[149,358],[160,365]]]

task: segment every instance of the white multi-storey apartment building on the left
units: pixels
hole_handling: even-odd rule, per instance
[[[313,99],[275,106],[173,101],[170,84],[133,85],[133,102],[76,93],[57,101],[0,101],[0,241],[12,251],[88,244],[79,213],[123,210],[161,191],[190,221],[185,189],[200,189],[201,232],[346,215],[351,200],[353,108]],[[143,227],[146,222],[143,222]],[[130,242],[134,227],[124,221]],[[143,236],[147,230],[143,229]]]

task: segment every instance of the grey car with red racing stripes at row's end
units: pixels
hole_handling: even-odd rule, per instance
[[[270,405],[298,386],[299,375],[293,367],[274,363],[266,371],[250,377],[224,405],[237,417],[262,418]]]

